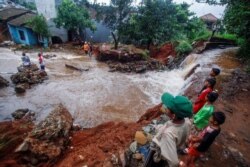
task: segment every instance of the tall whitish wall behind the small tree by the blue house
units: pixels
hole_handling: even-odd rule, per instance
[[[56,28],[53,19],[56,18],[56,6],[58,0],[35,0],[36,8],[39,14],[42,14],[48,21],[49,30],[51,36],[57,36],[62,39],[63,42],[68,41],[68,32],[64,28]]]

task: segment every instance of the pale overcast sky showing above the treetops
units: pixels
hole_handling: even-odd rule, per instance
[[[94,1],[94,0],[90,0]],[[136,0],[137,3],[140,2],[140,0]],[[196,13],[197,16],[202,16],[207,13],[212,13],[218,18],[221,18],[224,12],[225,7],[224,6],[211,6],[205,3],[197,3],[195,0],[173,0],[176,3],[182,3],[187,2],[188,4],[192,4],[190,7],[190,10],[194,13]],[[97,0],[98,3],[106,3],[109,4],[110,0]]]

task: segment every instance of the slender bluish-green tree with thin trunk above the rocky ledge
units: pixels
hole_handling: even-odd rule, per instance
[[[111,35],[114,39],[115,49],[118,48],[121,30],[126,25],[131,12],[133,0],[110,0],[108,7],[101,9],[104,23],[112,30]]]

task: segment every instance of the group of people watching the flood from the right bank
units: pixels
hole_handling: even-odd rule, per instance
[[[157,133],[152,139],[145,167],[195,166],[197,158],[208,150],[226,119],[225,114],[215,111],[213,105],[218,98],[214,86],[219,74],[220,69],[211,70],[210,77],[205,80],[193,104],[185,96],[162,95],[161,111],[170,120],[164,125],[155,126]],[[186,156],[181,161],[178,154]]]

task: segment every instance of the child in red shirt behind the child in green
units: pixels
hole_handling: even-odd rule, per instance
[[[193,112],[196,114],[206,103],[206,96],[208,93],[213,91],[216,80],[214,78],[206,79],[204,83],[204,90],[198,95],[193,105]]]

